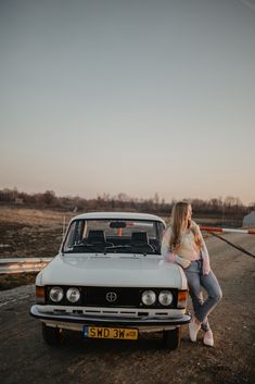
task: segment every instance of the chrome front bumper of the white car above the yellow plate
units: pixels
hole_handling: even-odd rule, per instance
[[[51,312],[40,312],[38,306],[33,306],[30,308],[30,314],[34,318],[40,319],[44,323],[52,326],[60,326],[66,329],[74,329],[73,325],[99,325],[99,326],[132,326],[144,332],[158,330],[165,330],[167,327],[176,327],[180,325],[188,324],[191,320],[191,315],[186,313],[180,318],[169,318],[169,317],[139,317],[136,319],[132,318],[119,318],[119,317],[94,317],[94,315],[80,315],[80,314],[61,314],[61,313],[51,313]],[[71,326],[68,326],[68,324]]]

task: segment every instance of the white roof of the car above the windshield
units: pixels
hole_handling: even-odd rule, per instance
[[[163,219],[155,214],[150,213],[136,213],[136,212],[88,212],[78,214],[73,220],[97,220],[97,219],[120,219],[120,220],[150,220],[160,221],[165,223]]]

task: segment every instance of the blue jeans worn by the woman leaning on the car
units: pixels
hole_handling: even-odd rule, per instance
[[[209,323],[207,317],[221,300],[222,292],[213,271],[207,275],[203,275],[202,262],[202,260],[192,261],[190,267],[183,271],[190,289],[194,315],[202,323],[202,330],[208,331]],[[208,295],[205,301],[203,299],[202,287]]]

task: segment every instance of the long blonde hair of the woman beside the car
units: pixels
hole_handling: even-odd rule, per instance
[[[169,250],[170,252],[177,252],[178,248],[180,247],[181,241],[181,231],[183,224],[187,221],[187,214],[190,203],[187,201],[178,201],[175,203],[173,211],[171,211],[171,236],[169,241]],[[194,235],[194,243],[199,249],[202,247],[202,239],[199,232],[195,228],[195,225],[192,225],[191,221],[187,222],[187,227]]]

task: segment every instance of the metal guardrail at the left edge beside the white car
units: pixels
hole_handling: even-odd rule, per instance
[[[39,272],[52,258],[0,259],[0,274]]]

